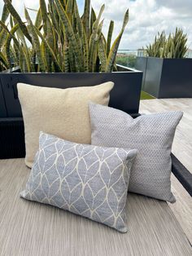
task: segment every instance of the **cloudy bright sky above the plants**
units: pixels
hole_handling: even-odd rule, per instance
[[[47,1],[47,0],[46,0]],[[76,0],[82,13],[84,0]],[[12,0],[15,9],[24,20],[24,5],[37,9],[38,0]],[[105,4],[103,12],[103,33],[107,35],[110,20],[114,20],[113,40],[120,33],[124,12],[129,8],[129,23],[124,30],[119,49],[136,50],[153,42],[155,34],[173,33],[176,27],[188,35],[188,47],[192,49],[192,0],[92,0],[91,5],[98,14]],[[0,0],[0,15],[3,0]],[[33,12],[30,12],[33,17]]]

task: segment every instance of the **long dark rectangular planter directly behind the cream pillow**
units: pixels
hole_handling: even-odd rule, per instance
[[[28,83],[34,86],[68,88],[94,86],[103,82],[115,83],[111,90],[110,106],[126,113],[138,113],[142,86],[142,72],[129,71],[114,73],[0,73],[0,97],[4,109],[0,117],[22,117],[16,84]],[[80,95],[81,96],[81,95]],[[50,99],[51,100],[51,99]]]

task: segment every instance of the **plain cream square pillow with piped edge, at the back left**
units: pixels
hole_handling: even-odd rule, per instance
[[[41,130],[76,143],[90,143],[89,100],[108,105],[113,86],[113,82],[106,82],[58,89],[18,83],[24,117],[25,164],[32,167]]]

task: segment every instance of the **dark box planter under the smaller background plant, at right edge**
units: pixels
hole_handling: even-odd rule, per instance
[[[192,59],[137,57],[142,90],[158,99],[192,98]]]

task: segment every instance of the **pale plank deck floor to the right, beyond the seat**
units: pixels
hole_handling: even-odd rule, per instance
[[[184,116],[177,126],[172,144],[173,154],[192,173],[192,99],[144,99],[140,102],[140,113],[160,113],[181,110]],[[172,174],[172,192],[177,202],[169,204],[192,244],[192,200],[181,183]]]

